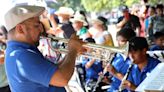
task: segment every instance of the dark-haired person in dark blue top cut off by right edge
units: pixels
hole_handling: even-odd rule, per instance
[[[156,32],[154,34],[154,45],[150,47],[150,51],[164,50],[164,33]]]

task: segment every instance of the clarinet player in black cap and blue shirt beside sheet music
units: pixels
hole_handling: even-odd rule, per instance
[[[135,91],[137,86],[147,77],[157,65],[159,60],[149,57],[146,52],[148,43],[143,37],[134,37],[129,41],[129,57],[133,61],[133,66],[128,74],[127,80],[123,81],[122,87],[130,91]]]

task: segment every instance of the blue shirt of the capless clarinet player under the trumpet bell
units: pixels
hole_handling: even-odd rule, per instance
[[[121,54],[116,54],[114,60],[112,61],[112,65],[116,69],[116,71],[124,75],[130,64],[130,59],[127,58],[125,60]],[[121,81],[115,76],[113,76],[111,80],[111,88],[108,90],[108,92],[117,92],[121,84]]]

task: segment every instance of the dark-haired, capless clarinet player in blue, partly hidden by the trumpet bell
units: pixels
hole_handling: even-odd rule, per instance
[[[135,32],[130,28],[123,28],[120,31],[117,32],[117,41],[118,45],[124,46],[129,39],[132,37],[135,37]],[[108,89],[109,92],[117,91],[119,88],[119,85],[121,83],[120,80],[122,80],[123,75],[126,73],[127,68],[131,61],[127,58],[127,60],[124,60],[123,55],[117,53],[114,60],[112,61],[112,66],[110,65],[108,67],[108,71],[110,74],[113,75],[111,78],[111,87]]]

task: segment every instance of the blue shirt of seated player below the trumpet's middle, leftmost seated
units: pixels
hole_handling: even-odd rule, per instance
[[[91,59],[89,58],[83,58],[82,65],[85,66],[87,62],[90,62],[90,60]],[[97,79],[99,76],[98,74],[102,71],[103,71],[102,62],[96,60],[90,68],[86,69],[86,81],[90,79]]]

